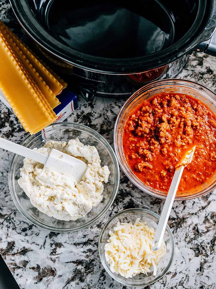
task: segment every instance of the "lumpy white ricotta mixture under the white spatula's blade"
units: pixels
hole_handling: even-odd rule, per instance
[[[39,211],[58,220],[77,220],[96,207],[103,198],[103,182],[109,179],[108,166],[101,167],[96,147],[84,145],[78,138],[68,142],[50,140],[37,149],[49,155],[57,149],[84,161],[86,173],[79,184],[69,175],[57,173],[43,164],[24,158],[18,184]]]

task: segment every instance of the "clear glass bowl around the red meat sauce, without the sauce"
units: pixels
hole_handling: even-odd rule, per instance
[[[166,199],[166,193],[155,190],[147,185],[145,185],[142,181],[140,181],[137,176],[129,168],[122,149],[122,134],[124,130],[125,123],[130,115],[132,109],[134,109],[137,105],[142,103],[145,99],[160,93],[160,92],[176,92],[176,93],[185,93],[200,99],[203,103],[205,103],[211,111],[216,114],[216,94],[210,89],[202,86],[193,81],[182,80],[182,79],[164,79],[152,82],[146,86],[143,86],[134,94],[129,97],[129,99],[124,103],[122,109],[120,110],[114,127],[114,149],[116,156],[118,158],[118,162],[126,174],[126,176],[132,181],[132,183],[137,186],[140,190],[150,194],[154,197],[158,197],[161,199]],[[188,200],[194,199],[197,197],[201,197],[216,188],[216,174],[202,186],[199,186],[196,190],[191,194],[181,193],[176,194],[175,200]]]

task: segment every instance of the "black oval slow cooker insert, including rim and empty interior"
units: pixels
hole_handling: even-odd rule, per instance
[[[215,0],[10,3],[22,27],[48,53],[80,68],[113,74],[175,61],[211,37],[215,21],[210,18],[216,18]]]

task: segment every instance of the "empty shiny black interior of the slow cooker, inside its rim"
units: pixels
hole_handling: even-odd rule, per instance
[[[177,42],[192,26],[199,1],[41,2],[33,12],[61,43],[88,55],[135,58]]]

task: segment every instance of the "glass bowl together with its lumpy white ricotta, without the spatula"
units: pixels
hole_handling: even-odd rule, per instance
[[[14,155],[8,173],[12,199],[34,225],[71,232],[98,221],[113,203],[119,185],[119,166],[110,144],[96,131],[77,123],[55,123],[21,145],[49,154],[52,148],[69,153],[87,165],[79,184],[68,175],[43,170],[43,165]]]

